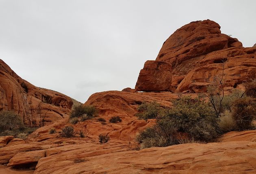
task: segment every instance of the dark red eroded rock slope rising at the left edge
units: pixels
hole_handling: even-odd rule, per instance
[[[72,104],[62,93],[23,80],[0,59],[0,110],[14,110],[26,125],[42,126],[67,117]]]

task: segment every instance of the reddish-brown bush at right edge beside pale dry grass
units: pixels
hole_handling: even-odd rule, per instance
[[[238,129],[252,128],[252,121],[256,118],[256,104],[251,97],[240,98],[234,101],[232,117]]]

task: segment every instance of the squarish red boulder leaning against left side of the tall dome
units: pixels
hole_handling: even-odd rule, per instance
[[[148,60],[139,73],[137,91],[167,91],[171,85],[171,64]]]

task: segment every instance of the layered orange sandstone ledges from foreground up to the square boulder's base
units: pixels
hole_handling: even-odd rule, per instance
[[[182,94],[197,96],[197,94]],[[91,95],[85,103],[100,110],[98,117],[79,121],[74,126],[76,137],[59,136],[68,118],[54,121],[30,134],[26,141],[6,136],[0,138],[0,173],[10,174],[82,174],[82,173],[255,173],[256,131],[229,132],[217,142],[179,144],[138,151],[136,135],[155,123],[154,119],[137,120],[134,116],[142,101],[171,104],[177,93],[131,93],[105,91]],[[121,123],[109,123],[120,116]],[[104,124],[98,118],[106,119]],[[49,134],[54,127],[56,133]],[[85,134],[80,138],[79,132]],[[110,140],[100,144],[99,134]],[[235,159],[235,160],[234,160]],[[4,164],[6,166],[3,166]],[[26,167],[31,170],[14,170]]]

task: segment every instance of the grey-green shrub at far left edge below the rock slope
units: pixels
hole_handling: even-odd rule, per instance
[[[0,132],[14,130],[23,127],[20,117],[13,111],[0,111]]]

